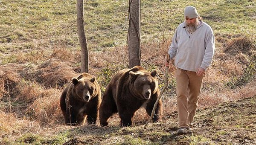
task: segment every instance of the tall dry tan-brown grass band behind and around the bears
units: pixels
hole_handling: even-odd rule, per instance
[[[230,41],[227,46],[231,46],[231,42],[234,42],[232,46],[237,44],[237,41]],[[160,84],[163,84],[163,60],[169,44],[170,40],[141,47],[143,54],[142,66],[148,70],[157,69]],[[252,45],[247,44],[246,46]],[[239,46],[236,47],[238,48]],[[235,89],[230,89],[225,85],[231,80],[233,73],[238,76],[243,75],[244,67],[250,61],[250,55],[242,52],[242,50],[244,49],[241,49],[241,52],[235,55],[229,53],[231,50],[228,53],[221,52],[220,49],[217,50],[213,64],[204,77],[201,97],[198,103],[199,109],[256,95],[255,79],[249,84]],[[251,51],[253,49],[245,50]],[[49,134],[54,134],[54,132],[50,131],[51,129],[55,129],[55,131],[60,129],[72,130],[70,127],[63,126],[64,119],[59,108],[59,96],[71,78],[77,76],[80,72],[80,67],[73,63],[79,63],[79,53],[80,51],[77,50],[53,49],[51,54],[45,56],[46,61],[39,64],[37,64],[38,60],[43,58],[30,58],[30,60],[37,60],[36,63],[32,63],[35,61],[28,62],[29,60],[25,59],[26,56],[24,56],[24,58],[19,58],[22,63],[0,66],[0,116],[3,116],[0,118],[0,136],[2,138],[12,136],[14,138],[12,140],[15,140],[18,136],[27,132],[40,134],[46,131]],[[90,52],[89,56],[90,73],[96,76],[102,88],[107,85],[106,78],[111,78],[117,71],[127,67],[128,64],[127,47],[116,47],[102,52]],[[103,71],[106,71],[105,69],[110,72],[103,73]],[[175,68],[170,68],[169,83],[174,80],[174,72]],[[173,85],[170,83],[169,87],[174,88],[168,88],[169,91],[166,91],[162,96],[163,119],[167,126],[175,124],[175,122],[168,121],[170,116],[177,117],[176,96],[175,92],[173,92],[175,86]],[[148,118],[149,116],[144,109],[138,110],[133,118],[134,127],[144,125]],[[109,129],[119,128],[120,119],[117,114],[112,116],[109,121]],[[91,129],[96,132],[106,130],[98,126],[99,122],[96,123],[96,128],[90,125],[85,125],[84,127],[87,130]],[[151,127],[151,125],[149,126]],[[92,132],[90,131],[90,133]],[[93,138],[91,136],[92,140]],[[104,142],[109,144],[119,143],[123,142],[122,139],[124,138],[112,137]],[[88,143],[92,140],[83,140],[78,137],[70,139],[69,142]],[[97,142],[99,143],[99,141]]]

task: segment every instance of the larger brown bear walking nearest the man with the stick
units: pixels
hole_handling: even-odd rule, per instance
[[[99,107],[101,126],[108,125],[108,119],[118,113],[122,126],[132,125],[132,117],[140,108],[145,107],[150,116],[157,97],[160,95],[157,81],[157,71],[146,71],[135,66],[116,73],[108,84]],[[162,101],[157,104],[153,121],[162,119]]]

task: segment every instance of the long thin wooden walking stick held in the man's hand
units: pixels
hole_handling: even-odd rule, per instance
[[[167,55],[167,58],[166,58],[166,61],[169,63],[170,61],[170,55],[168,54]],[[153,115],[154,115],[154,112],[156,110],[156,107],[157,107],[157,104],[161,98],[161,96],[163,95],[163,92],[164,90],[166,89],[166,87],[168,86],[168,70],[169,70],[169,67],[166,67],[166,70],[165,70],[165,79],[164,79],[164,87],[163,87],[163,90],[161,91],[160,95],[157,97],[157,101],[155,102],[154,104],[154,107],[153,107],[153,110],[151,112],[151,116],[150,118],[148,119],[148,121],[146,122],[146,124],[144,125],[144,129],[146,129],[146,126],[148,125],[148,123],[150,122],[150,120],[153,118]]]

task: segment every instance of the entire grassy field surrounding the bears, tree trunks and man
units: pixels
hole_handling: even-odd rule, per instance
[[[76,0],[0,0],[0,144],[253,144],[256,142],[256,0],[142,0],[142,66],[163,87],[168,46],[192,5],[215,33],[192,134],[179,136],[175,68],[163,94],[163,121],[143,125],[64,125],[59,96],[80,73]],[[127,0],[85,0],[90,74],[102,93],[128,67]],[[114,57],[113,57],[114,56]]]

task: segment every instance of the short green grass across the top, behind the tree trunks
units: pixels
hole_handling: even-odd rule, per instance
[[[183,10],[188,5],[198,8],[198,13],[215,33],[256,34],[255,3],[250,0],[148,0],[141,1],[142,44],[171,38],[183,22]],[[79,46],[74,0],[14,0],[12,3],[1,0],[0,10],[0,42],[3,45],[36,40],[45,41],[49,47],[59,40],[63,46]],[[84,20],[89,49],[127,44],[128,1],[84,1]],[[28,44],[19,46],[27,48]]]

